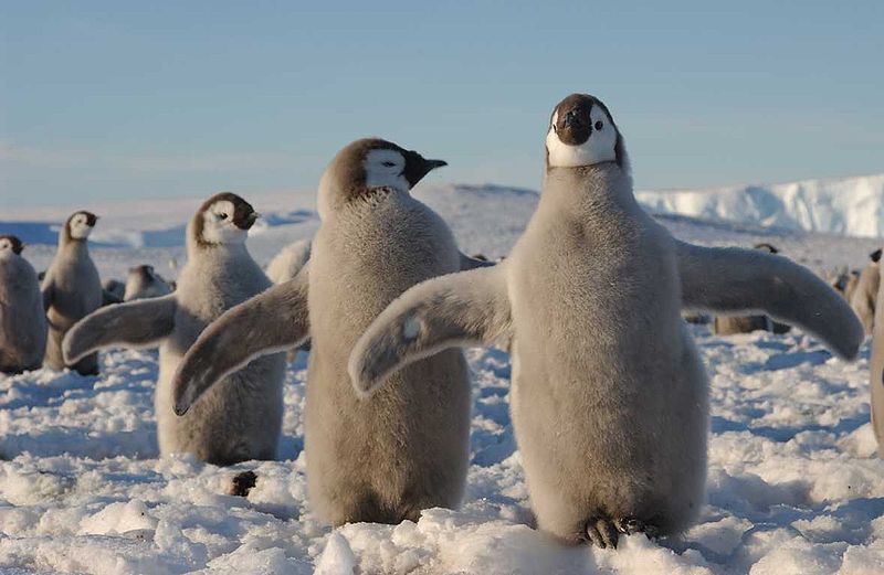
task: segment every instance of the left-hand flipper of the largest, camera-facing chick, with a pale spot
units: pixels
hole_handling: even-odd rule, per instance
[[[508,344],[505,269],[499,264],[428,279],[394,299],[350,353],[356,392],[367,395],[393,371],[445,348]]]

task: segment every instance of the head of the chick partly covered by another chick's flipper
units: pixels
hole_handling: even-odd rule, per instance
[[[191,221],[191,234],[200,246],[242,244],[257,217],[252,204],[222,192],[202,203]]]

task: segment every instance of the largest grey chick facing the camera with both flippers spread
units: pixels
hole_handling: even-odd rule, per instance
[[[708,426],[682,308],[767,312],[845,356],[862,328],[786,258],[674,239],[635,201],[623,138],[597,98],[556,106],[546,151],[537,211],[511,256],[406,291],[356,343],[349,372],[377,394],[441,349],[512,341],[513,425],[538,526],[599,546],[678,533],[703,504]]]

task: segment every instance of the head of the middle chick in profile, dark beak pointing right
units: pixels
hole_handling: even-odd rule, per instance
[[[408,193],[424,175],[448,166],[428,160],[380,138],[364,138],[347,145],[328,164],[319,183],[319,213],[352,200],[366,199],[381,189]]]

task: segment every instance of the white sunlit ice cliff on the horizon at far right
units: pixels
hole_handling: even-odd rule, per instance
[[[775,185],[640,191],[654,213],[857,237],[884,236],[884,173]]]

